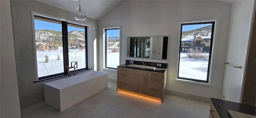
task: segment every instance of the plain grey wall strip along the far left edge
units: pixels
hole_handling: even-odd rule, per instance
[[[21,118],[10,0],[1,0],[0,8],[0,117]]]

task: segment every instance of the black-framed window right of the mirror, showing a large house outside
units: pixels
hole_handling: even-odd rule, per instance
[[[178,79],[209,81],[215,22],[181,24]]]

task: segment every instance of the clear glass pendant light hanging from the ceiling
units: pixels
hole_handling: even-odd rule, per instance
[[[86,19],[86,12],[80,5],[80,0],[79,0],[79,6],[75,9],[74,16],[75,16],[75,19],[78,21],[85,21]]]

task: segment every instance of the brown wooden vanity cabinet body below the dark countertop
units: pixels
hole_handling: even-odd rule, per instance
[[[164,73],[118,67],[117,88],[160,98],[163,102],[166,71]]]

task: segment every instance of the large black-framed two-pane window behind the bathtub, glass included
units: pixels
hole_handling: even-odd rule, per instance
[[[34,27],[38,80],[67,75],[73,61],[88,69],[86,26],[34,15]]]

